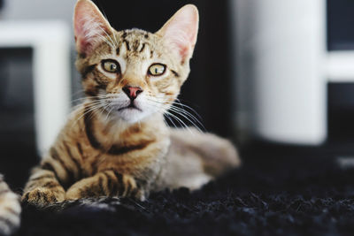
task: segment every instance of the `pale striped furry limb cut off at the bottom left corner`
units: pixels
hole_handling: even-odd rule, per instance
[[[0,175],[0,234],[9,235],[19,228],[21,206],[19,195],[11,191]]]

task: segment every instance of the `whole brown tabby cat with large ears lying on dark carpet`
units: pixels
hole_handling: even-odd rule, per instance
[[[32,170],[23,202],[144,201],[165,188],[198,189],[240,164],[230,141],[165,125],[164,113],[178,110],[173,103],[189,75],[198,20],[188,4],[155,34],[116,31],[94,3],[76,3],[76,67],[86,98]]]

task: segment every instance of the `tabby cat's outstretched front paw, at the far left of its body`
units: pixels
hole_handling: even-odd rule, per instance
[[[45,187],[36,187],[22,195],[21,201],[37,207],[44,207],[54,202],[64,201],[64,191],[53,191]]]

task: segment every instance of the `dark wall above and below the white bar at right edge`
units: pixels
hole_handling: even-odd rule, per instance
[[[327,0],[327,49],[354,49],[354,1]],[[354,141],[354,83],[327,85],[328,142]]]

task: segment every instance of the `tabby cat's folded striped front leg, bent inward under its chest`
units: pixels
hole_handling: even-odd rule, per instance
[[[73,184],[65,194],[66,200],[98,196],[123,196],[145,200],[145,191],[134,177],[117,171],[101,171]]]

